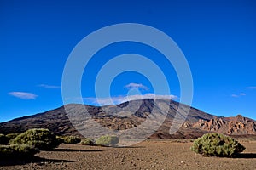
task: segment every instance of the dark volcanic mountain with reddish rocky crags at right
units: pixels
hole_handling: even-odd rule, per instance
[[[158,123],[155,121],[157,117],[164,117],[160,127],[154,131],[149,139],[191,139],[208,132],[228,135],[256,135],[256,122],[252,119],[241,115],[236,117],[213,116],[188,105],[166,99],[131,100],[120,105],[102,107],[69,104],[33,116],[24,116],[9,122],[2,122],[0,123],[0,133],[22,133],[30,128],[44,127],[58,135],[81,135],[79,133],[81,129],[90,135],[94,133],[91,130],[93,125],[90,124],[88,116],[84,114],[84,108],[88,111],[90,119],[97,122],[95,124],[120,132],[140,127],[143,123],[146,123],[148,127],[154,126]],[[163,110],[163,108],[165,109]],[[190,111],[187,116],[185,111],[188,109]],[[147,122],[150,117],[154,118],[151,119],[151,122]],[[183,122],[185,118],[186,120]],[[178,122],[183,122],[181,127],[175,126]],[[177,127],[178,131],[170,134],[169,132],[172,130],[170,127]],[[147,128],[143,130],[146,133],[150,132],[150,129]],[[132,135],[139,136],[140,133],[132,133]]]

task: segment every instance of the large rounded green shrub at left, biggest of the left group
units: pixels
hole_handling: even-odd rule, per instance
[[[55,134],[48,129],[34,128],[19,134],[15,139],[9,141],[10,144],[28,144],[38,150],[52,150],[58,146]]]

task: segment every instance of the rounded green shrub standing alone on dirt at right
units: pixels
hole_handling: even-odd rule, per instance
[[[223,134],[207,133],[194,141],[191,150],[203,156],[234,156],[245,147]]]

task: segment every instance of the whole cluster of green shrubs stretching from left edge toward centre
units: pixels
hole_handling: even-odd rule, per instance
[[[51,133],[48,129],[34,128],[20,134],[0,134],[0,158],[33,156],[38,153],[39,150],[52,150],[61,143],[115,146],[119,143],[119,138],[105,135],[95,141],[94,139],[87,138],[80,139],[76,136],[55,136],[55,134]]]

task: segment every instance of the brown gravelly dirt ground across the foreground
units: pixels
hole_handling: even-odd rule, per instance
[[[190,151],[191,142],[144,141],[126,148],[61,144],[33,159],[0,160],[0,169],[247,169],[256,170],[256,141],[235,158],[204,157]]]

